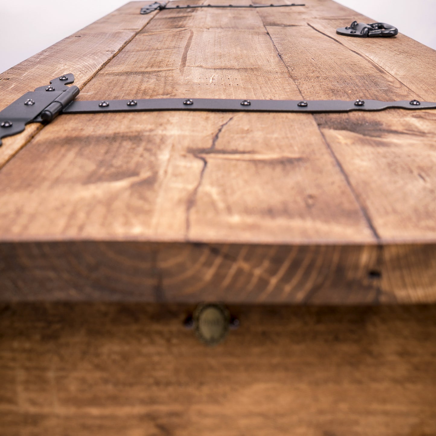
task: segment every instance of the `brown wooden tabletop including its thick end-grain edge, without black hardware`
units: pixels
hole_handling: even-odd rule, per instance
[[[436,100],[428,73],[434,51],[401,34],[339,37],[336,27],[371,20],[330,0],[145,17],[138,13],[143,4],[129,3],[91,26],[89,41],[70,38],[83,39],[99,61],[84,55],[77,72],[84,48],[67,38],[50,61],[43,57],[37,75],[41,56],[11,70],[15,79],[0,83],[8,98],[28,90],[20,75],[31,66],[30,89],[73,72],[82,86],[79,99],[86,100]],[[100,40],[102,29],[110,44]],[[108,54],[108,45],[117,48]],[[69,64],[62,61],[65,47],[76,56]],[[412,68],[405,67],[408,59]],[[434,302],[435,121],[435,111],[150,112],[65,115],[38,133],[31,127],[1,149],[6,162],[25,146],[0,170],[0,299]],[[132,262],[130,244],[174,257],[175,265],[183,244],[215,261],[199,270],[184,259],[191,279],[173,285],[167,277],[177,276],[177,268],[161,268],[159,261],[158,272],[144,272],[148,263],[141,267],[139,283],[112,286],[103,275],[95,284],[91,271],[108,264],[123,276]],[[214,258],[215,245],[236,253],[228,257],[234,266]],[[120,253],[116,264],[101,250],[113,246]],[[62,267],[54,262],[59,253]],[[295,253],[300,263],[293,262]],[[84,269],[66,267],[61,275],[65,265],[83,262]],[[256,279],[262,265],[274,269],[265,283]]]

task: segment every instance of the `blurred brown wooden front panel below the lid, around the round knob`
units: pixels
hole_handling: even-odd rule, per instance
[[[0,427],[30,436],[436,433],[436,307],[230,307],[215,348],[191,307],[0,310]]]

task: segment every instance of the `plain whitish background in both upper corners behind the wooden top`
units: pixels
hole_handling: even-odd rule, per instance
[[[128,0],[0,1],[0,72],[3,72]],[[374,21],[392,24],[403,34],[436,49],[436,0],[337,1]]]

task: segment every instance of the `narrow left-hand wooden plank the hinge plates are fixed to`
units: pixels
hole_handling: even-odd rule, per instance
[[[156,15],[140,15],[141,5],[130,2],[95,23],[35,54],[0,74],[0,110],[25,92],[48,85],[52,78],[74,72],[79,88],[92,79]],[[3,139],[0,168],[26,145],[40,130],[30,124],[23,133]]]

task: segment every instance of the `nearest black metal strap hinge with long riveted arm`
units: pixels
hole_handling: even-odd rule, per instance
[[[351,112],[381,111],[389,108],[436,109],[436,103],[407,100],[242,100],[242,99],[133,99],[74,101],[79,94],[74,75],[65,74],[50,85],[27,92],[0,111],[1,138],[16,135],[28,123],[49,123],[61,113],[144,112],[144,111],[221,111],[221,112]]]

